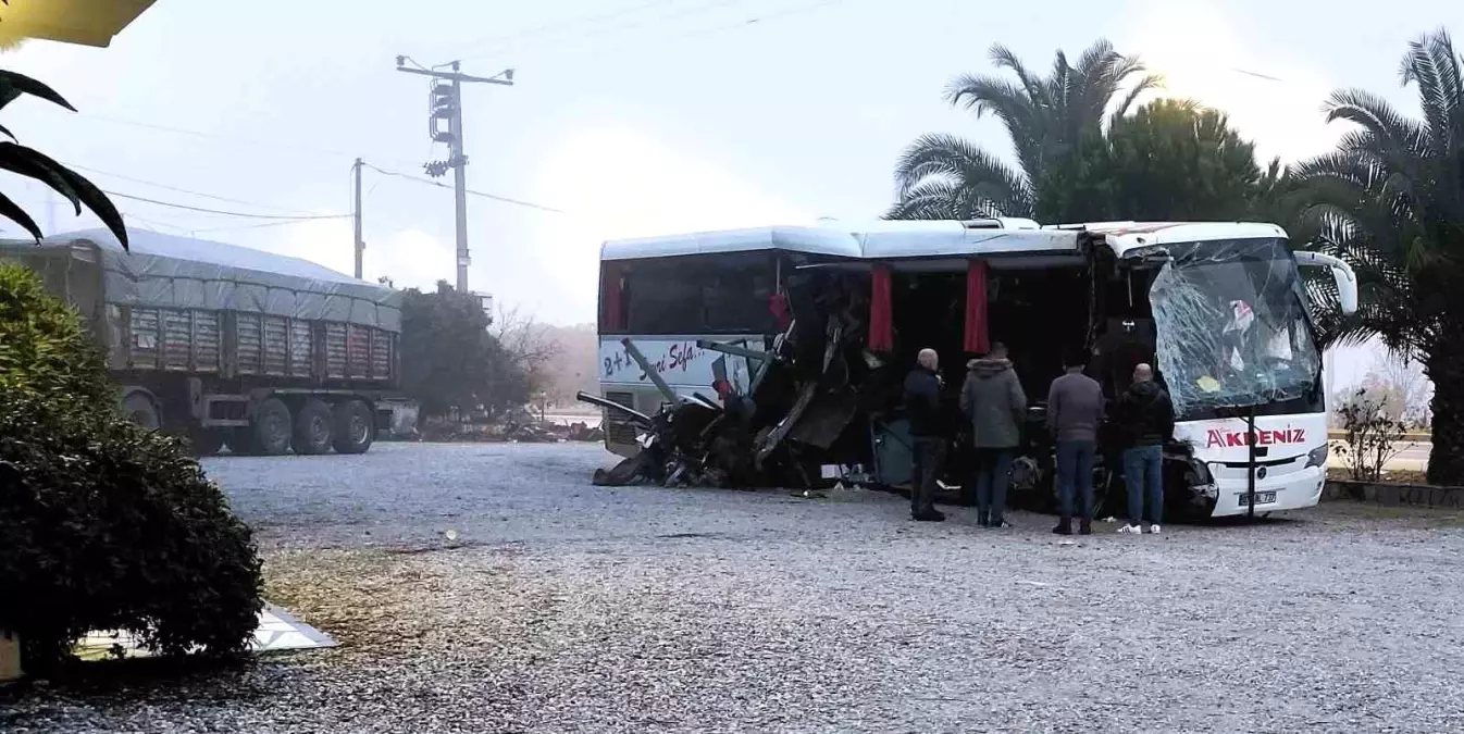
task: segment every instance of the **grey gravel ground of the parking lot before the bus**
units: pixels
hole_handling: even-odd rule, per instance
[[[915,524],[875,492],[590,486],[606,461],[214,460],[271,599],[341,648],[10,692],[0,731],[1464,727],[1460,516],[1332,504],[1063,545],[1048,517]]]

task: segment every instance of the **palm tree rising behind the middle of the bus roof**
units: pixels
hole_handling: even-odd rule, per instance
[[[1104,40],[1083,51],[1078,66],[1057,51],[1045,79],[1028,72],[1004,45],[993,45],[990,56],[1016,81],[963,75],[946,88],[946,100],[978,117],[990,113],[1001,120],[1019,168],[959,136],[924,135],[896,166],[899,201],[887,217],[1066,220],[1063,211],[1044,211],[1045,177],[1075,161],[1088,142],[1101,139],[1105,116],[1121,117],[1140,94],[1159,85],[1158,76],[1143,73],[1138,59],[1118,54]],[[1114,107],[1113,100],[1135,76],[1138,81]]]

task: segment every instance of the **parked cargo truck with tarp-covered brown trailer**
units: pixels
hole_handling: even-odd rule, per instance
[[[129,230],[0,240],[101,344],[123,412],[199,454],[359,454],[408,406],[401,293],[262,251]]]

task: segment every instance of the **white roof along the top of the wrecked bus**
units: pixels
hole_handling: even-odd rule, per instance
[[[600,246],[600,259],[758,251],[801,252],[843,259],[1063,256],[1079,252],[1079,239],[1085,233],[1102,236],[1120,258],[1132,249],[1176,242],[1285,237],[1285,230],[1275,224],[1250,221],[1104,221],[1038,227],[1031,220],[922,220],[877,221],[859,229],[829,223],[609,240]]]

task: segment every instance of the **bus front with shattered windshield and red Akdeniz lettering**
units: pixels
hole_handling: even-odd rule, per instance
[[[1315,505],[1326,481],[1326,388],[1299,261],[1332,271],[1345,312],[1356,311],[1353,271],[1297,258],[1271,224],[1086,231],[1113,253],[1111,273],[1149,284],[1155,363],[1176,415],[1170,492],[1217,517]]]

